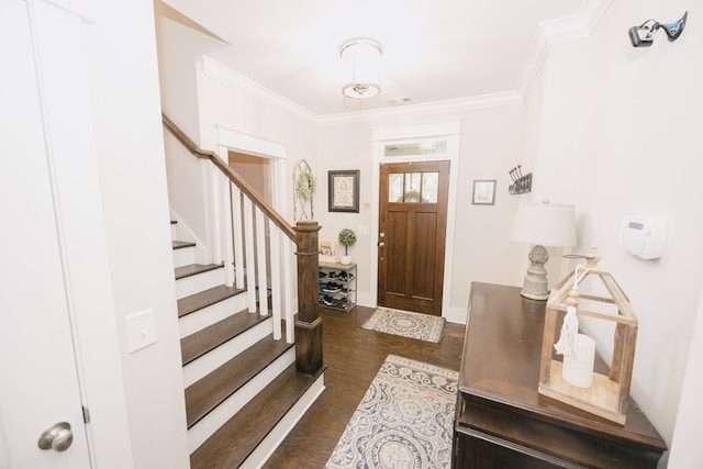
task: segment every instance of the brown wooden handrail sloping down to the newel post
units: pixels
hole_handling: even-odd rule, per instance
[[[188,137],[178,125],[174,123],[166,114],[161,114],[161,121],[168,131],[194,156],[201,159],[211,160],[224,175],[230,178],[236,187],[244,192],[252,202],[268,216],[268,219],[278,226],[293,243],[298,244],[295,231],[288,224],[276,210],[274,210],[239,175],[237,175],[230,165],[222,160],[214,152],[201,149],[196,143]]]

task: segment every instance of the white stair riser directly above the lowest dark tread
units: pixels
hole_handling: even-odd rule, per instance
[[[188,431],[190,453],[192,454],[198,449],[217,428],[232,418],[247,402],[254,399],[256,394],[294,361],[295,348],[292,347],[191,427]]]

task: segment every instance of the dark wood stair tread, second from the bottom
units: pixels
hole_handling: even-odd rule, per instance
[[[186,420],[192,427],[212,410],[266,369],[293,345],[264,337],[252,347],[186,388]]]

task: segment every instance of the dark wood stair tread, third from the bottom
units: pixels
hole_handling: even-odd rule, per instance
[[[263,316],[258,312],[249,313],[247,310],[244,310],[181,338],[180,354],[182,365],[186,366],[194,359],[202,357],[208,351],[217,348],[227,340],[269,317],[271,317],[270,314]]]

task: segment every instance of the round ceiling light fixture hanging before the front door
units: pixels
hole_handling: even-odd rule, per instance
[[[373,98],[381,92],[380,63],[383,48],[366,37],[347,41],[339,47],[339,56],[352,64],[352,81],[342,88],[342,93],[352,99]]]

